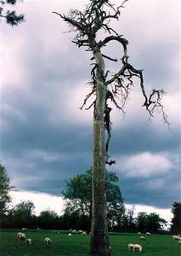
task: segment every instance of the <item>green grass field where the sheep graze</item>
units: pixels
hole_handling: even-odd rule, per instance
[[[27,238],[31,238],[31,247],[25,246],[23,241],[18,241],[16,234],[19,230],[0,230],[0,255],[1,256],[87,256],[89,235],[68,236],[68,231],[25,231]],[[45,237],[50,237],[53,244],[43,243]],[[110,233],[110,246],[112,256],[135,255],[128,252],[128,243],[139,243],[143,246],[145,256],[181,256],[181,245],[169,235],[147,236],[146,241],[140,241],[137,234]]]

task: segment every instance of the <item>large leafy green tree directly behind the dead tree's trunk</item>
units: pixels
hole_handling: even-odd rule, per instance
[[[122,192],[118,185],[118,177],[115,172],[105,172],[105,193],[110,228],[114,229],[122,219],[125,207],[122,200]],[[65,198],[65,216],[75,218],[75,224],[81,224],[89,230],[92,214],[92,170],[84,174],[78,174],[66,182],[63,191]],[[78,221],[80,219],[80,221]],[[84,220],[84,221],[83,221]],[[79,227],[79,229],[81,228]],[[76,228],[78,228],[76,226]]]

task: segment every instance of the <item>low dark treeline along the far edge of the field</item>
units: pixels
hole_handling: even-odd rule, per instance
[[[64,213],[62,216],[51,210],[40,212],[39,216],[33,214],[34,204],[31,201],[22,201],[7,214],[3,215],[0,227],[4,229],[44,229],[44,230],[86,230],[90,231],[91,218],[88,215]],[[160,218],[155,212],[147,214],[139,212],[133,218],[134,208],[126,210],[119,223],[109,222],[110,231],[119,232],[165,232],[167,221]]]

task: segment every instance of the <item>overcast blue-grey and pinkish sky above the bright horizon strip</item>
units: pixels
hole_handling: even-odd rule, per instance
[[[120,3],[120,1],[113,1]],[[24,1],[25,22],[1,29],[1,163],[20,191],[60,196],[65,179],[92,165],[93,112],[81,111],[90,81],[90,53],[52,11],[67,14],[88,0]],[[129,41],[130,62],[144,69],[149,93],[163,89],[170,129],[161,113],[151,122],[139,82],[125,107],[112,113],[111,158],[127,204],[169,209],[180,201],[180,15],[178,0],[129,0],[113,27]],[[103,35],[104,37],[104,35]],[[113,44],[104,53],[121,58]],[[116,72],[109,65],[112,73]],[[37,194],[41,195],[41,194]]]

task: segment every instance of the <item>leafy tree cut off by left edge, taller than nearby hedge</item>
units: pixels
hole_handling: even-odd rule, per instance
[[[9,191],[12,188],[7,171],[5,167],[0,164],[0,219],[2,219],[7,212],[8,203],[11,201]]]

